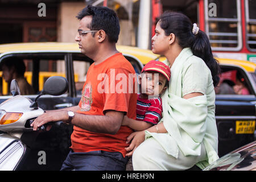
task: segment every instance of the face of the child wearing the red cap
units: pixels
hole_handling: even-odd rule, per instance
[[[146,94],[147,96],[159,96],[167,88],[166,77],[161,73],[148,71],[141,74],[140,83],[141,84],[141,93]]]

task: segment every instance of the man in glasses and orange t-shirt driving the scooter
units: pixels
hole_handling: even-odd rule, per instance
[[[69,152],[61,170],[125,170],[124,115],[136,118],[137,93],[133,66],[115,47],[120,31],[117,15],[108,7],[86,6],[75,40],[94,60],[86,75],[78,106],[47,111],[31,124],[34,130],[51,121],[74,125]]]

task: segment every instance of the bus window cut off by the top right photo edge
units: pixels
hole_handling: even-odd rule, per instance
[[[250,51],[256,51],[256,1],[245,1],[246,30],[247,30],[247,48]]]

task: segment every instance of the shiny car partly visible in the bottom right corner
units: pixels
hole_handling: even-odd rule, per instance
[[[203,171],[255,171],[256,141],[229,152]]]

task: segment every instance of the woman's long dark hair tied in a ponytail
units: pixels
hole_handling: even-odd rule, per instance
[[[212,55],[212,48],[205,32],[199,30],[198,34],[194,35],[191,20],[182,13],[172,11],[165,11],[160,16],[159,23],[167,36],[171,33],[176,36],[181,48],[190,47],[193,55],[204,60],[212,73],[213,85],[217,86],[220,81],[220,66]]]

